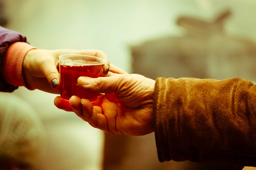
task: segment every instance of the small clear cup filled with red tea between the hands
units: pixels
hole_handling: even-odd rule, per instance
[[[69,100],[71,96],[97,100],[97,93],[89,92],[77,85],[80,76],[97,78],[102,75],[105,60],[82,54],[62,54],[59,56],[60,97]]]

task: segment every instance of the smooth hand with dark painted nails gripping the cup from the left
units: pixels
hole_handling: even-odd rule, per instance
[[[30,50],[23,61],[23,74],[25,82],[42,91],[59,94],[59,55],[85,54],[101,57],[106,60],[103,73],[109,70],[109,60],[105,53],[98,50]]]

